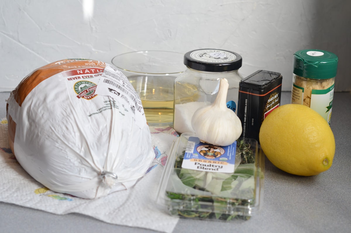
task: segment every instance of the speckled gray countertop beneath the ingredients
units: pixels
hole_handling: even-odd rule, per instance
[[[0,93],[0,118],[6,115]],[[282,105],[290,92],[282,93]],[[331,168],[317,176],[287,174],[265,163],[264,202],[248,221],[180,219],[173,232],[351,232],[351,94],[335,93],[331,129],[336,153]],[[160,219],[158,221],[161,221]],[[80,214],[55,215],[0,202],[0,232],[153,232],[108,224]]]

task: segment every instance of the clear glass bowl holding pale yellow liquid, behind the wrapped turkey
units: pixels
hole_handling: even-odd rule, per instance
[[[173,125],[174,80],[185,70],[184,54],[134,51],[112,58],[139,94],[149,126]]]

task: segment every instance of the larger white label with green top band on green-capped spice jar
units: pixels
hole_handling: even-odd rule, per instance
[[[330,125],[331,109],[333,105],[334,84],[324,90],[314,90],[311,93],[311,106]]]

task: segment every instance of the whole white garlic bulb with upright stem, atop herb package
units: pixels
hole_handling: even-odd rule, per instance
[[[221,78],[216,100],[211,105],[200,107],[195,111],[191,125],[201,141],[228,146],[240,137],[243,130],[241,121],[231,109],[227,108],[228,87],[228,80]]]

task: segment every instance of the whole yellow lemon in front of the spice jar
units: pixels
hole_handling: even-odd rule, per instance
[[[330,126],[304,105],[274,109],[262,122],[259,140],[267,158],[290,174],[317,175],[333,162],[335,139]]]

